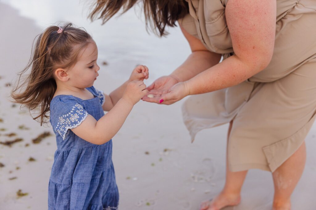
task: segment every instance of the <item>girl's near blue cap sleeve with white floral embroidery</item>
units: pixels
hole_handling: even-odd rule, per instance
[[[76,128],[88,116],[88,112],[77,99],[61,97],[51,105],[51,123],[59,135],[65,140],[71,128]]]

